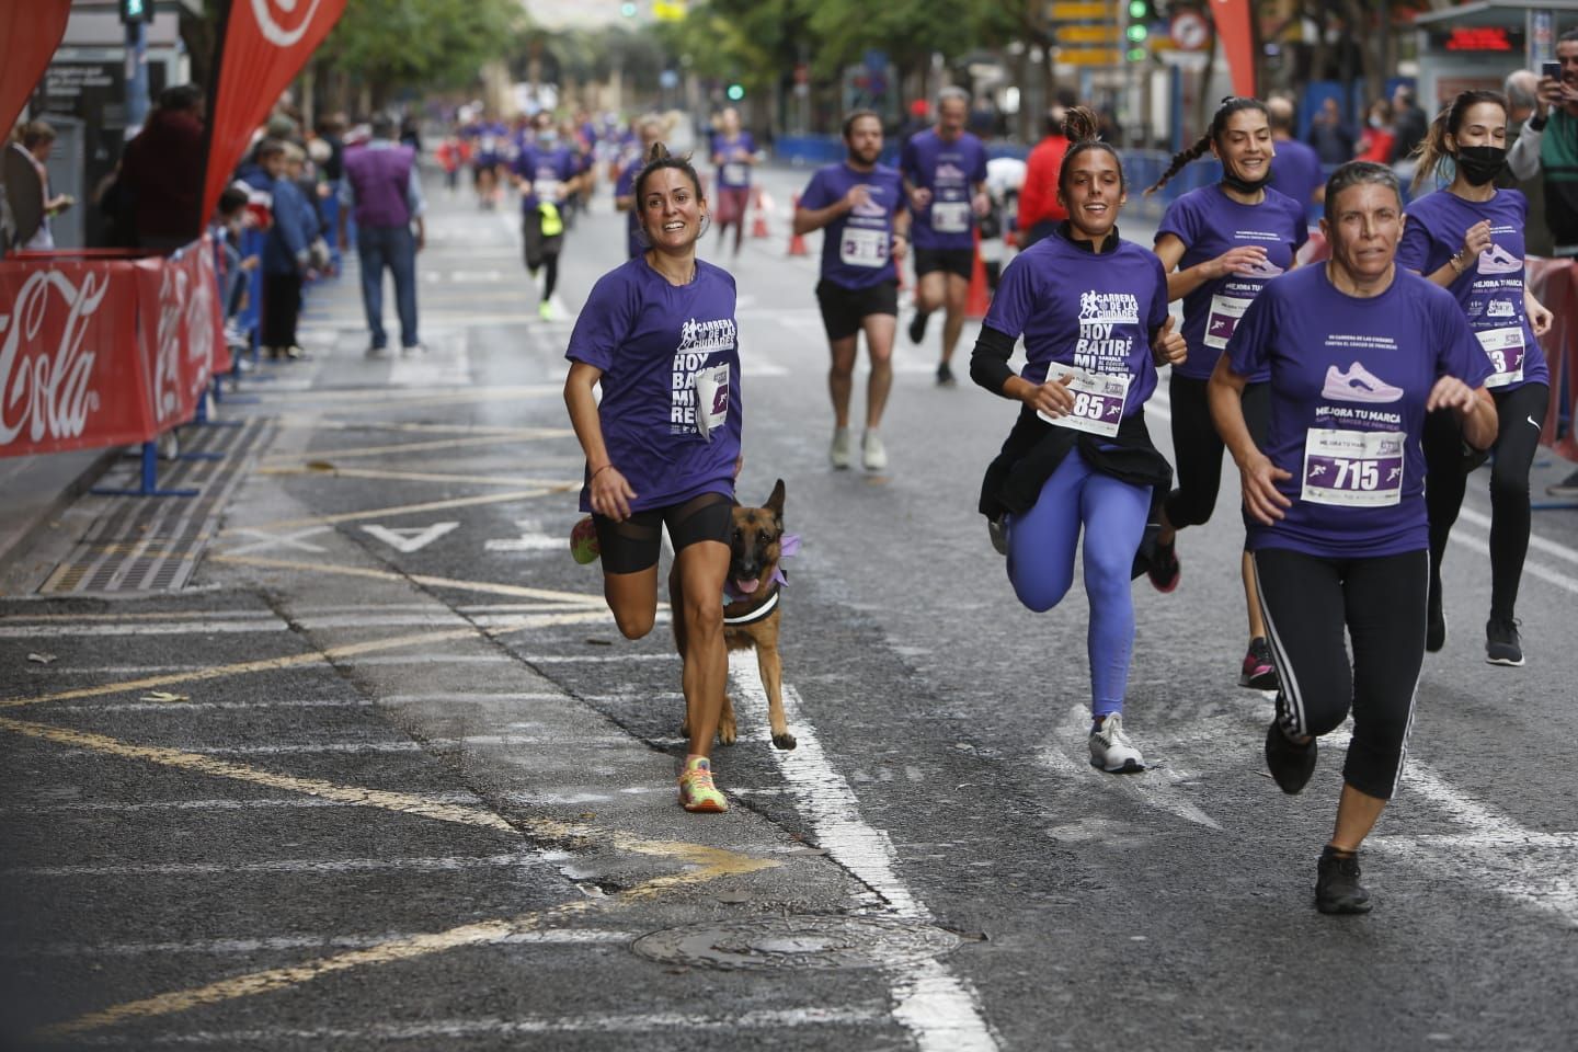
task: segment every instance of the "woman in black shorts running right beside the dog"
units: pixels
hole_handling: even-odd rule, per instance
[[[680,803],[727,811],[709,757],[729,669],[723,588],[742,423],[734,278],[696,259],[707,200],[688,159],[655,144],[634,199],[650,248],[598,279],[565,352],[565,404],[587,457],[581,509],[592,513],[603,595],[626,639],[652,631],[669,532],[690,733]]]

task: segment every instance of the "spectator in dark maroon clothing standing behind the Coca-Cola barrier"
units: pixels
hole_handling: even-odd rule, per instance
[[[159,106],[120,162],[120,189],[131,203],[137,248],[174,252],[202,230],[204,93],[178,84],[159,93]]]

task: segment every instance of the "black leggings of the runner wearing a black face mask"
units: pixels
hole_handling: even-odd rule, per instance
[[[1540,445],[1540,423],[1551,388],[1524,383],[1512,391],[1491,391],[1496,399],[1496,457],[1490,470],[1490,615],[1512,618],[1518,606],[1523,558],[1529,554],[1529,467]],[[1425,508],[1430,511],[1431,587],[1441,588],[1441,560],[1447,554],[1452,524],[1458,520],[1468,475],[1463,461],[1463,427],[1452,410],[1425,418]]]

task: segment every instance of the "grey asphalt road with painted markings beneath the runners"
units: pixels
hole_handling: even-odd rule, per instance
[[[226,410],[252,454],[191,468],[234,489],[186,588],[36,593],[79,541],[174,530],[114,498],[0,568],[0,1043],[1578,1047],[1578,514],[1537,514],[1528,666],[1491,667],[1471,484],[1376,910],[1321,916],[1341,743],[1302,796],[1264,771],[1231,486],[1179,590],[1135,585],[1127,722],[1154,768],[1097,773],[1083,595],[1015,602],[974,513],[1013,407],[933,385],[939,326],[901,338],[892,470],[827,467],[816,237],[784,254],[806,175],[767,173],[772,237],[710,254],[740,287],[740,497],[783,478],[805,538],[800,748],[770,746],[735,659],[735,806],[682,812],[667,628],[620,639],[565,554],[562,355],[622,259],[606,188],[544,323],[514,213],[434,186],[428,352],[368,360],[353,274],[316,289],[311,360]]]

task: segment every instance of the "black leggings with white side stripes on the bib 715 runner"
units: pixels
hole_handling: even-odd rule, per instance
[[[1352,710],[1343,781],[1390,800],[1403,776],[1425,661],[1430,555],[1321,558],[1269,547],[1255,552],[1255,580],[1281,677],[1283,727],[1292,735],[1324,735]]]

